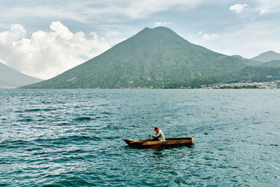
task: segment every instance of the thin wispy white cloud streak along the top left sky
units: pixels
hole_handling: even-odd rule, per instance
[[[170,8],[192,9],[205,0],[104,0],[104,1],[21,1],[13,6],[0,6],[0,19],[15,20],[49,18],[81,23],[120,23],[147,18],[148,15]],[[8,4],[8,1],[7,3]],[[36,19],[34,20],[36,22]]]

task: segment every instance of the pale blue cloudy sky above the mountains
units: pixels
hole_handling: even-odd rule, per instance
[[[0,62],[48,79],[145,27],[251,58],[280,53],[279,0],[0,0]]]

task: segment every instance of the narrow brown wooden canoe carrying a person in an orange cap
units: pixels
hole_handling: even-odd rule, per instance
[[[192,137],[166,138],[165,141],[153,141],[150,139],[123,139],[131,148],[157,148],[174,146],[192,146]]]

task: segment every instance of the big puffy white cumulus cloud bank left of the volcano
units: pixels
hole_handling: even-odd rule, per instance
[[[52,22],[50,32],[37,31],[25,37],[22,25],[0,32],[0,59],[18,71],[47,79],[103,53],[110,46],[97,33],[87,37],[72,33],[61,22]]]

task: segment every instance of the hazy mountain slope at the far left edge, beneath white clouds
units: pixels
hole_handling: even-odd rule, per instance
[[[5,64],[0,63],[0,88],[16,88],[22,85],[38,83],[42,81],[15,71]]]

